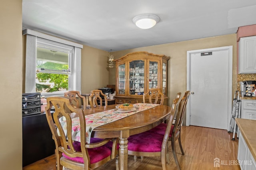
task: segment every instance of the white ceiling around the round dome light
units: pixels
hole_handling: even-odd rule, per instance
[[[156,14],[150,29],[132,22]],[[236,33],[256,24],[256,0],[22,0],[22,25],[104,51]]]

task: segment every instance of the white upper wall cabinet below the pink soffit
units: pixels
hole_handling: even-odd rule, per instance
[[[256,36],[240,38],[238,73],[256,73]]]

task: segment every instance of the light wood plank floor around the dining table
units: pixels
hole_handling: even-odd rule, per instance
[[[232,141],[232,134],[227,130],[212,129],[197,126],[183,126],[181,132],[182,155],[177,143],[178,160],[182,170],[240,170],[236,164],[238,139]],[[170,144],[169,144],[170,145]],[[168,170],[176,170],[171,146],[170,164]],[[220,167],[214,167],[214,158],[220,159]],[[25,166],[23,170],[55,170],[55,156],[49,156]],[[115,160],[94,170],[115,170]],[[144,157],[134,161],[133,156],[128,156],[128,170],[162,170],[160,157]]]

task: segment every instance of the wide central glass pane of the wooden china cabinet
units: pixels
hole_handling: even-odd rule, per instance
[[[142,95],[144,93],[144,66],[143,60],[129,62],[129,95]]]

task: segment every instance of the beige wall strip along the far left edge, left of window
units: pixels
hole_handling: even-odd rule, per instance
[[[22,170],[22,0],[2,0],[0,21],[0,169]]]

